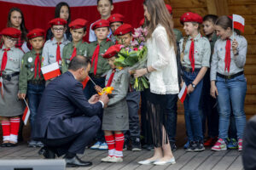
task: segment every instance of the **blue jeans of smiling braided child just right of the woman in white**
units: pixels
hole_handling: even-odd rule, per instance
[[[187,87],[195,80],[198,72],[199,71],[183,72],[183,80]],[[191,94],[187,94],[184,100],[185,124],[189,141],[203,140],[201,116],[199,112],[202,85],[203,80],[196,85]]]

